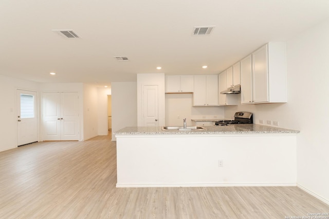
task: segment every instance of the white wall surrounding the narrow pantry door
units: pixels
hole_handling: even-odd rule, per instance
[[[165,125],[165,74],[137,74],[137,124],[143,126],[142,89],[143,85],[158,85],[158,124]]]

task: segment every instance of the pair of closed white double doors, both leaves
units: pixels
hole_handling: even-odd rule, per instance
[[[44,140],[79,140],[77,92],[43,94]]]

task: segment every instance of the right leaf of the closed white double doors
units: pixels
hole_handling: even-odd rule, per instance
[[[61,140],[79,140],[78,93],[61,93]]]

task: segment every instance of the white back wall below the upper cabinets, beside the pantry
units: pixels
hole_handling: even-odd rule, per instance
[[[166,94],[166,125],[182,125],[185,118],[187,125],[191,119],[223,119],[224,107],[193,106],[193,94]]]

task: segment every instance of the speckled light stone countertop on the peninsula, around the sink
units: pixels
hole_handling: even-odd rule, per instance
[[[232,124],[227,126],[204,126],[206,130],[162,130],[162,127],[124,127],[114,134],[119,135],[243,135],[243,134],[297,134],[297,130],[282,129],[259,124]]]

